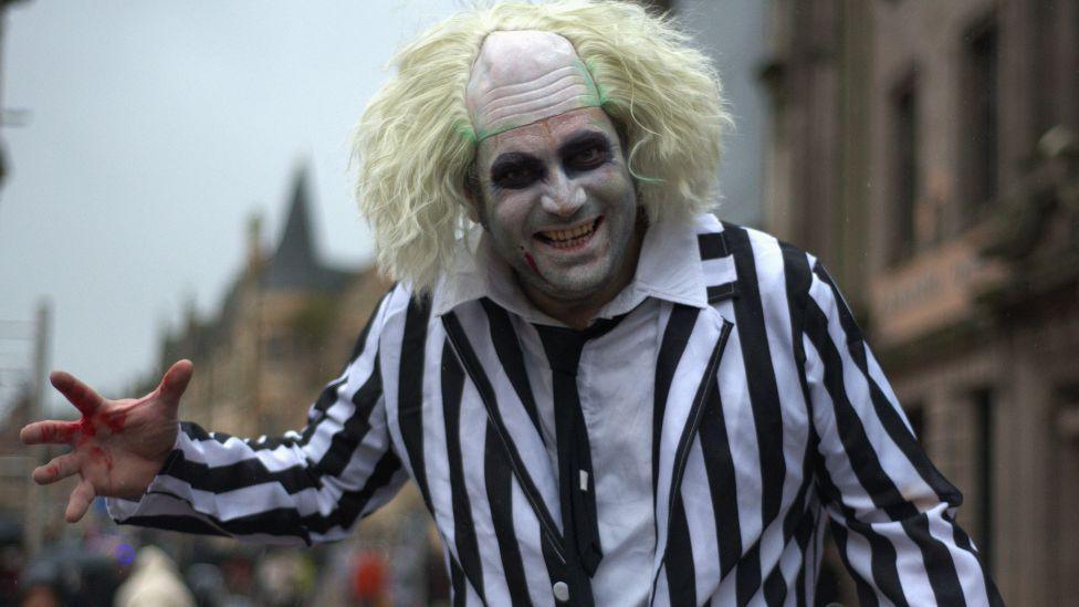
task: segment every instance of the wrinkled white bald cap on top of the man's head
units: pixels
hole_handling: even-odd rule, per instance
[[[599,107],[603,100],[568,40],[520,30],[486,36],[464,103],[476,138],[483,140],[573,109]]]

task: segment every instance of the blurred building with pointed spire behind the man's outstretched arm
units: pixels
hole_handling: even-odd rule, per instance
[[[390,284],[370,269],[338,269],[319,261],[303,171],[293,180],[276,245],[264,249],[256,218],[248,226],[247,240],[247,263],[220,312],[201,318],[189,306],[182,326],[165,336],[159,369],[144,390],[151,390],[172,363],[189,358],[196,371],[184,396],[182,419],[241,437],[274,436],[303,427],[307,409],[341,374]],[[415,550],[406,542],[427,547],[426,534],[417,540],[404,528],[415,526],[422,510],[409,483],[359,525],[357,537],[389,558],[398,550]],[[214,545],[228,550],[232,544]]]

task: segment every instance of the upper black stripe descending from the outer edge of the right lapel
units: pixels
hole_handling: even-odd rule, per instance
[[[715,515],[715,544],[720,552],[720,578],[722,579],[738,564],[738,557],[742,555],[738,492],[719,381],[710,383],[704,398],[705,410],[700,429],[701,451]]]

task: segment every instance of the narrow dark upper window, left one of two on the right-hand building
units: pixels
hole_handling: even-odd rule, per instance
[[[914,252],[914,211],[918,201],[918,87],[913,75],[892,91],[891,148],[891,261]]]

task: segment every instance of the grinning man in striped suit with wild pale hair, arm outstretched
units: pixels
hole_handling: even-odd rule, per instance
[[[999,601],[824,268],[702,214],[727,117],[683,34],[502,4],[396,64],[356,151],[399,284],[306,428],[177,431],[188,362],[54,374],[84,420],[23,439],[74,443],[34,472],[82,475],[69,520],[321,542],[410,477],[461,604],[811,604],[826,521],[867,604]]]

